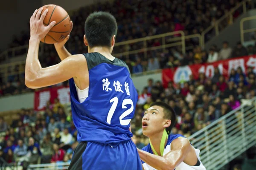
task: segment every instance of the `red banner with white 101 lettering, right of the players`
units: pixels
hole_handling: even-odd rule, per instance
[[[198,79],[199,73],[204,73],[206,77],[214,76],[214,68],[218,67],[219,71],[224,77],[230,75],[232,68],[242,68],[244,72],[247,71],[248,67],[253,67],[256,71],[256,55],[248,57],[239,57],[235,59],[226,59],[218,62],[187,65],[177,68],[167,68],[162,71],[163,86],[167,88],[168,82],[172,81],[175,83],[189,81],[189,76],[192,74],[194,79]]]

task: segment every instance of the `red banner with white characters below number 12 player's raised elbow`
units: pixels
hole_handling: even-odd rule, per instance
[[[58,98],[61,104],[70,102],[70,88],[69,87],[54,87],[46,90],[36,91],[34,99],[35,111],[43,111],[50,101],[54,103],[54,99]]]

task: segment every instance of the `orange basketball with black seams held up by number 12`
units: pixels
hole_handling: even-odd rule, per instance
[[[52,21],[56,21],[55,26],[50,29],[48,34],[41,40],[41,42],[47,44],[54,44],[56,42],[61,42],[62,40],[70,34],[71,30],[71,20],[67,11],[57,5],[45,5],[43,6],[43,11],[48,9],[48,12],[44,18],[44,25],[48,26]],[[40,8],[39,8],[40,9]]]

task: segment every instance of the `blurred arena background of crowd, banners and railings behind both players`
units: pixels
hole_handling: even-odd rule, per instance
[[[131,121],[137,147],[148,144],[141,119],[151,102],[174,108],[173,134],[201,150],[207,170],[256,169],[255,0],[9,0],[0,2],[0,167],[66,170],[77,146],[68,82],[24,84],[29,18],[56,4],[73,21],[71,54],[86,53],[84,21],[116,17],[113,55],[124,60],[139,93]],[[41,44],[43,67],[60,62]],[[0,168],[1,169],[1,168]]]

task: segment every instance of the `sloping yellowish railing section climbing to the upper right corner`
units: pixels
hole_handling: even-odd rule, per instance
[[[201,34],[201,38],[202,38],[202,48],[204,48],[205,46],[205,36],[206,34],[208,34],[210,31],[214,31],[215,32],[215,36],[219,35],[220,32],[220,25],[224,20],[227,20],[228,25],[233,24],[233,14],[239,9],[242,8],[242,14],[246,13],[247,11],[247,2],[251,2],[253,3],[252,0],[244,0],[241,3],[239,3],[236,7],[232,8],[229,12],[227,12],[227,14],[225,14],[224,16],[222,16],[220,19],[218,19],[217,21],[215,21],[215,23],[212,26],[209,26],[206,30],[204,30]],[[253,5],[254,6],[254,5]],[[223,29],[223,28],[222,28]]]

